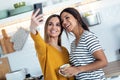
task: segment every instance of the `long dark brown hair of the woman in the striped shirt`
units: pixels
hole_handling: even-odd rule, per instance
[[[61,15],[62,15],[63,12],[70,13],[70,14],[78,21],[78,23],[81,25],[81,27],[82,27],[84,30],[89,31],[88,26],[84,23],[84,21],[82,20],[81,15],[80,15],[80,13],[79,13],[75,8],[72,8],[72,7],[65,8],[65,9],[62,10],[62,12],[60,13],[60,17],[61,17]]]

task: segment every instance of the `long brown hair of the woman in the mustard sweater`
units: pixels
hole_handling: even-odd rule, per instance
[[[49,16],[49,17],[47,18],[47,20],[46,20],[46,22],[45,22],[45,27],[44,27],[44,39],[45,39],[45,42],[46,42],[46,43],[47,43],[48,40],[49,40],[49,36],[48,36],[48,34],[47,34],[48,23],[49,23],[50,19],[53,18],[53,17],[57,17],[57,18],[59,19],[60,23],[61,23],[61,18],[60,18],[60,16],[57,15],[57,14],[53,14],[53,15],[51,15],[51,16]],[[60,25],[61,25],[61,24],[60,24]],[[60,35],[58,36],[58,45],[59,45],[59,46],[61,46],[61,34],[62,34],[62,32],[63,32],[63,27],[62,27],[62,25],[61,25],[61,33],[60,33]]]

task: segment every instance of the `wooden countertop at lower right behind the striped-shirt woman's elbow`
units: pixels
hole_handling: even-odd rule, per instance
[[[107,67],[103,68],[107,78],[120,75],[120,60],[109,62]]]

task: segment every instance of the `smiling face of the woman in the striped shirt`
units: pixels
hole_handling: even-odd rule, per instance
[[[78,21],[67,12],[61,14],[62,26],[66,29],[67,32],[73,32],[75,27],[78,26]]]

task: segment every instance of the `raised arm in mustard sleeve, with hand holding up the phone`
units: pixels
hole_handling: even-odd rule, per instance
[[[39,32],[37,31],[37,27],[42,23],[43,15],[38,15],[40,9],[38,9],[35,13],[32,14],[31,23],[30,23],[30,33],[31,37],[35,44],[35,49],[38,54],[45,54],[46,53],[46,43],[41,38]]]

